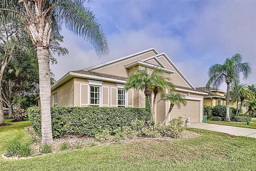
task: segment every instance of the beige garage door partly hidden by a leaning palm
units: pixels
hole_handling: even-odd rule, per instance
[[[186,107],[181,106],[180,109],[178,109],[176,106],[173,107],[170,113],[170,119],[181,116],[183,117],[183,122],[185,122],[184,118],[190,116],[190,122],[199,122],[199,101],[188,99],[186,101]]]

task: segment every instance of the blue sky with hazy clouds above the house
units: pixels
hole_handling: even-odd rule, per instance
[[[62,27],[66,56],[50,68],[59,80],[82,70],[148,48],[165,52],[194,87],[204,87],[208,69],[234,54],[253,68],[243,84],[256,84],[256,1],[94,0],[89,7],[102,24],[110,53],[98,57],[94,47]],[[220,89],[226,91],[226,84]]]

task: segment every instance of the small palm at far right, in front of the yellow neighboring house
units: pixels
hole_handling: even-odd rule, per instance
[[[245,100],[254,99],[254,93],[247,89],[245,84],[236,84],[231,86],[230,99],[236,102],[236,116],[238,111],[241,110]]]

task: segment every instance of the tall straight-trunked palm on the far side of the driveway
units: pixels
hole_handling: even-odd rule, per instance
[[[235,54],[232,58],[227,58],[224,64],[215,64],[208,70],[209,80],[206,87],[210,89],[212,85],[215,88],[220,87],[223,82],[227,84],[226,95],[226,121],[230,122],[229,101],[230,101],[230,84],[236,85],[240,82],[240,73],[247,79],[251,74],[252,68],[250,63],[242,63],[242,56]]]

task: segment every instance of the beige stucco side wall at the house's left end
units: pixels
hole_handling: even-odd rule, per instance
[[[53,94],[57,93],[58,106],[73,106],[74,105],[74,78],[60,85],[51,92],[51,106],[53,106]]]

